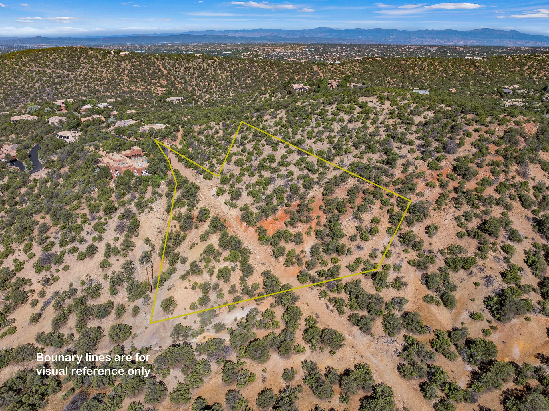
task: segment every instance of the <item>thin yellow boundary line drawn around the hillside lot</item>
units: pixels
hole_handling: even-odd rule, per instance
[[[300,150],[300,151],[303,151],[303,153],[305,154],[308,154],[308,155],[311,155],[313,157],[316,157],[318,160],[322,160],[324,162],[327,162],[328,164],[334,166],[335,168],[339,168],[340,170],[343,170],[345,172],[348,172],[349,174],[351,174],[352,176],[355,176],[357,178],[360,178],[370,184],[373,184],[375,185],[376,187],[379,187],[383,190],[385,190],[386,192],[389,192],[389,193],[392,193],[398,197],[400,197],[401,199],[404,199],[406,201],[408,201],[408,205],[406,206],[406,210],[404,210],[404,214],[402,215],[402,217],[400,218],[400,221],[399,221],[399,224],[396,226],[396,229],[395,229],[395,232],[393,233],[393,237],[391,237],[391,240],[389,241],[389,244],[387,245],[387,247],[385,248],[385,251],[383,252],[383,255],[382,255],[382,258],[381,260],[379,261],[378,265],[376,268],[372,268],[370,270],[367,270],[367,271],[362,271],[360,273],[355,273],[355,274],[349,274],[349,275],[343,275],[342,277],[338,277],[338,278],[332,278],[332,279],[329,279],[329,280],[323,280],[323,281],[318,281],[318,283],[313,283],[313,284],[305,284],[305,285],[300,285],[298,287],[295,287],[295,288],[290,288],[289,290],[283,290],[283,291],[277,291],[277,292],[272,292],[271,294],[266,294],[266,295],[260,295],[260,296],[257,296],[257,297],[253,297],[251,299],[245,299],[245,300],[240,300],[240,301],[237,301],[237,302],[231,302],[231,303],[228,303],[228,304],[223,304],[223,305],[220,305],[220,306],[217,306],[217,307],[210,307],[210,308],[204,308],[204,309],[199,309],[198,311],[193,311],[193,312],[190,312],[190,313],[185,313],[185,314],[180,314],[178,316],[173,316],[173,317],[169,317],[169,318],[164,318],[164,319],[161,319],[161,320],[155,320],[153,321],[153,315],[154,315],[154,307],[156,305],[156,296],[158,295],[158,287],[159,287],[159,284],[160,284],[160,275],[162,274],[162,265],[164,263],[164,253],[166,252],[166,243],[167,243],[167,239],[168,239],[168,232],[170,230],[170,223],[171,223],[171,217],[172,217],[172,212],[173,212],[173,203],[175,201],[175,195],[176,195],[176,190],[177,190],[177,180],[175,178],[175,174],[173,173],[173,167],[171,165],[171,162],[170,160],[168,159],[168,157],[166,156],[166,153],[164,153],[164,150],[162,149],[162,147],[165,147],[167,148],[168,150],[172,151],[173,153],[177,154],[177,155],[180,155],[181,157],[183,157],[185,160],[187,161],[190,161],[192,162],[192,164],[202,168],[203,170],[205,171],[208,171],[210,174],[212,174],[213,176],[215,177],[220,177],[221,176],[221,171],[223,170],[223,166],[225,166],[225,162],[227,161],[227,157],[229,156],[229,153],[231,152],[231,149],[233,148],[233,144],[234,144],[234,140],[236,140],[237,136],[238,136],[238,132],[240,131],[240,127],[242,127],[242,125],[246,125],[246,126],[249,126],[251,128],[254,128],[255,130],[261,132],[261,133],[264,133],[264,134],[267,134],[267,136],[270,136],[272,138],[274,138],[275,140],[278,140],[284,144],[288,144],[290,146],[292,146],[293,148],[297,149],[297,150]],[[372,272],[372,271],[377,271],[379,269],[379,267],[381,267],[381,264],[383,262],[383,260],[385,259],[385,255],[387,254],[387,251],[389,251],[389,247],[391,246],[391,243],[393,243],[393,239],[395,238],[395,235],[396,233],[399,231],[399,228],[400,228],[400,224],[402,223],[402,220],[404,220],[404,217],[406,216],[406,213],[408,212],[408,207],[410,207],[410,204],[412,204],[412,200],[410,199],[407,199],[405,196],[402,196],[400,194],[397,194],[391,190],[389,190],[388,188],[385,188],[385,187],[382,187],[381,185],[379,184],[376,184],[374,183],[373,181],[369,181],[367,180],[366,178],[364,177],[361,177],[359,176],[358,174],[355,174],[349,170],[346,170],[345,168],[343,167],[340,167],[338,166],[337,164],[333,164],[333,162],[330,162],[328,160],[324,160],[323,158],[317,156],[316,154],[312,154],[312,153],[309,153],[309,151],[307,150],[304,150],[302,148],[299,148],[297,147],[296,145],[293,145],[292,143],[288,143],[287,141],[284,141],[282,138],[278,138],[276,136],[273,136],[272,134],[269,134],[267,133],[266,131],[263,131],[263,130],[260,130],[260,128],[257,128],[255,126],[252,126],[251,124],[248,124],[247,122],[244,122],[244,121],[240,121],[240,124],[238,125],[238,128],[237,128],[237,132],[234,133],[234,137],[233,137],[233,140],[231,142],[231,145],[229,145],[229,149],[227,150],[227,154],[225,155],[225,159],[223,159],[223,163],[221,164],[221,168],[219,169],[219,173],[214,173],[210,170],[208,170],[208,168],[204,167],[204,166],[201,166],[200,164],[198,164],[197,162],[194,162],[193,160],[189,159],[188,157],[184,156],[183,154],[181,153],[178,153],[178,151],[175,151],[173,150],[172,148],[168,147],[167,145],[159,142],[157,139],[154,139],[154,141],[156,142],[156,145],[158,145],[158,148],[160,149],[160,151],[162,152],[162,154],[164,155],[166,161],[168,162],[168,164],[170,165],[170,171],[172,173],[172,177],[173,177],[173,180],[175,181],[175,187],[173,188],[173,198],[172,198],[172,204],[171,204],[171,208],[170,208],[170,217],[168,218],[168,228],[166,229],[166,236],[165,236],[165,239],[164,239],[164,248],[162,250],[162,259],[160,260],[160,269],[159,269],[159,272],[158,272],[158,280],[156,281],[156,291],[154,292],[154,301],[153,301],[153,309],[152,309],[152,312],[150,313],[150,324],[154,324],[154,323],[160,323],[160,322],[163,322],[163,321],[167,321],[167,320],[171,320],[171,319],[174,319],[174,318],[179,318],[179,317],[185,317],[185,316],[190,316],[191,314],[198,314],[198,313],[201,313],[201,312],[204,312],[204,311],[209,311],[210,309],[216,309],[216,308],[222,308],[222,307],[228,307],[228,306],[232,306],[232,305],[235,305],[235,304],[240,304],[240,303],[243,303],[243,302],[247,302],[247,301],[253,301],[253,300],[259,300],[259,299],[263,299],[263,298],[266,298],[266,297],[270,297],[272,295],[277,295],[277,294],[282,294],[283,292],[288,292],[288,291],[294,291],[294,290],[299,290],[301,288],[306,288],[306,287],[312,287],[312,286],[315,286],[315,285],[319,285],[319,284],[324,284],[324,283],[328,283],[329,281],[335,281],[335,280],[340,280],[340,279],[343,279],[343,278],[348,278],[348,277],[353,277],[354,275],[359,275],[359,274],[365,274],[365,273],[369,273],[369,272]],[[162,146],[162,147],[161,147]]]

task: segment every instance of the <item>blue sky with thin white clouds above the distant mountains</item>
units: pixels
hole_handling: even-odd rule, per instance
[[[21,0],[19,0],[21,1]],[[0,36],[98,36],[188,30],[337,29],[470,30],[479,27],[549,35],[549,0],[405,2],[74,1],[0,3]]]

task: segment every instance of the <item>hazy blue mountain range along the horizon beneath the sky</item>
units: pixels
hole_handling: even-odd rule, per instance
[[[158,43],[354,43],[429,44],[439,46],[549,46],[549,36],[516,30],[396,30],[317,27],[307,30],[253,29],[203,30],[184,33],[136,34],[89,37],[0,38],[0,45],[107,46],[109,44]]]

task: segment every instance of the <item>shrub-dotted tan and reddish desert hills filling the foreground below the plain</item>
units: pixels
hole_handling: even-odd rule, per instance
[[[0,55],[0,408],[549,409],[547,59]]]

